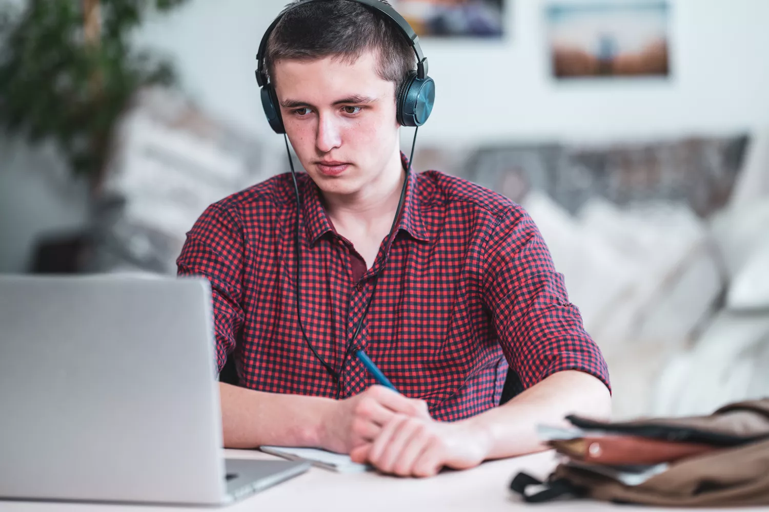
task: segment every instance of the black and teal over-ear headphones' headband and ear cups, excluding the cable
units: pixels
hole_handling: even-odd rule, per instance
[[[270,38],[270,34],[275,25],[278,25],[278,21],[291,10],[300,7],[301,5],[309,4],[312,2],[338,2],[339,0],[301,0],[291,4],[286,8],[278,18],[272,21],[271,25],[265,31],[265,35],[261,38],[259,44],[259,51],[256,54],[256,81],[261,88],[261,106],[265,109],[265,115],[267,121],[270,123],[272,130],[275,130],[276,134],[285,134],[285,127],[283,126],[283,119],[281,118],[280,104],[278,104],[278,97],[275,95],[275,88],[267,78],[265,72],[265,51],[267,50],[267,42]],[[356,2],[358,4],[368,5],[384,15],[385,18],[389,18],[394,21],[401,33],[408,39],[411,48],[414,49],[414,54],[417,55],[417,71],[409,71],[403,84],[396,92],[397,107],[395,110],[396,119],[401,126],[417,127],[424,124],[424,121],[428,120],[432,111],[433,104],[435,102],[435,83],[432,78],[428,77],[428,59],[424,57],[422,49],[419,46],[419,38],[408,25],[408,21],[404,20],[403,16],[399,15],[394,8],[389,5],[379,2],[379,0],[345,0],[346,2]]]

